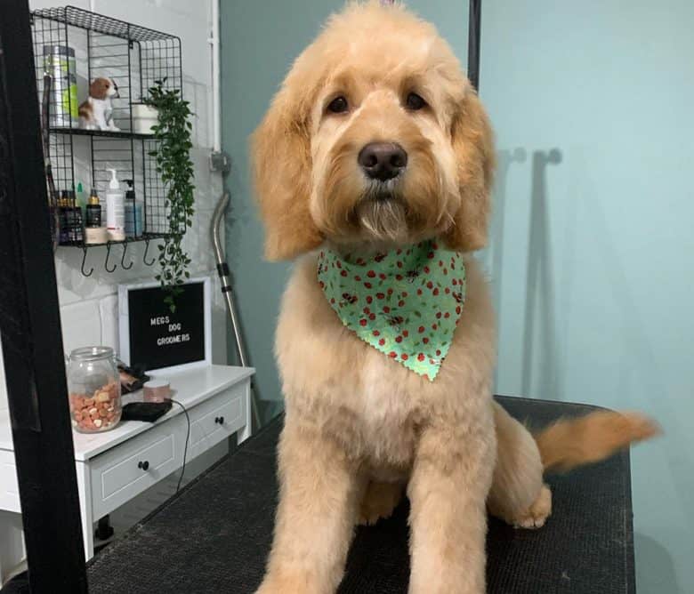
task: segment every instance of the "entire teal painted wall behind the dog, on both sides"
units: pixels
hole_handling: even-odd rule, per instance
[[[291,60],[342,2],[222,3],[227,228],[258,386],[279,398],[284,265],[263,262],[246,143]],[[467,6],[409,3],[462,60]],[[487,2],[481,95],[499,154],[480,254],[499,316],[500,393],[639,409],[666,435],[633,451],[640,592],[694,591],[694,4]]]

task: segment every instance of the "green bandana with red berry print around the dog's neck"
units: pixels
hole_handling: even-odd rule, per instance
[[[465,300],[463,255],[424,241],[367,258],[320,252],[319,285],[362,341],[433,381]]]

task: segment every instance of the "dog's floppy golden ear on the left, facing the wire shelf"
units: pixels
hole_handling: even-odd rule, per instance
[[[269,260],[290,260],[322,243],[309,212],[311,92],[295,88],[295,77],[290,73],[251,141]]]

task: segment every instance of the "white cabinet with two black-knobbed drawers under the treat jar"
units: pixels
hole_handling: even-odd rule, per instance
[[[186,462],[234,433],[239,442],[250,436],[253,373],[252,368],[210,365],[161,376],[171,382],[173,398],[185,406],[190,418]],[[124,421],[103,433],[73,433],[87,558],[93,556],[95,521],[182,468],[188,434],[188,419],[182,412],[173,404],[156,423]],[[0,412],[0,510],[20,513],[6,412]]]

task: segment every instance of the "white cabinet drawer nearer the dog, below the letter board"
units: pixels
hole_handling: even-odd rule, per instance
[[[196,411],[196,419],[190,423],[189,459],[230,437],[246,424],[244,396],[247,385],[244,382],[224,390],[211,398],[203,410]]]

